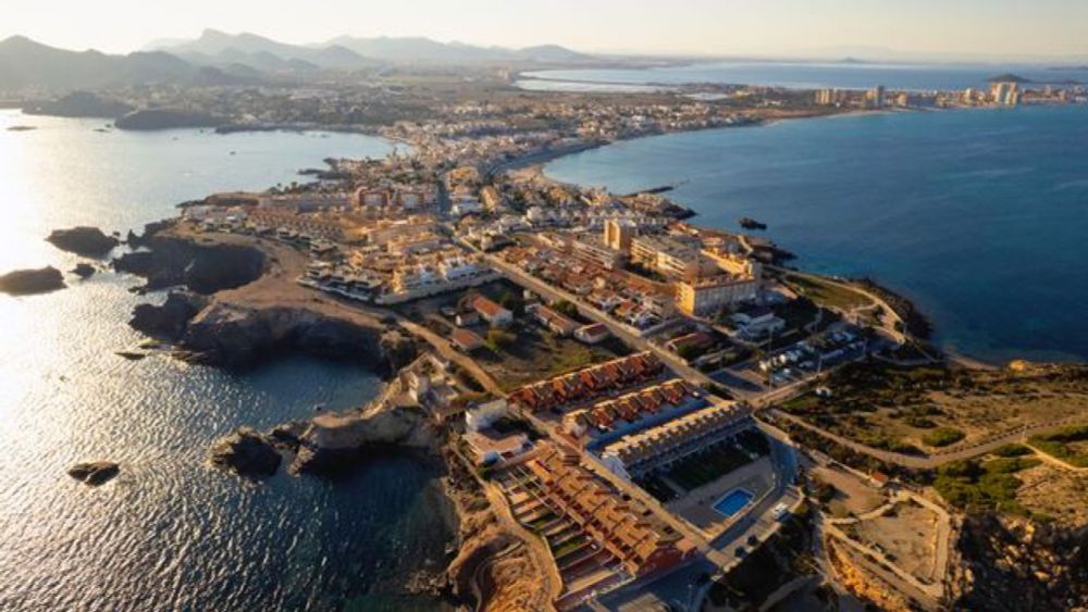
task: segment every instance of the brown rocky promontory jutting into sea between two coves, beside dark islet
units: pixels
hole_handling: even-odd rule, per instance
[[[294,474],[321,474],[348,467],[382,447],[432,449],[435,436],[423,412],[416,408],[322,414],[310,421],[290,465]]]

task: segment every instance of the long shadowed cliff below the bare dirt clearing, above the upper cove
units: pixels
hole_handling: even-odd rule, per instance
[[[238,369],[280,351],[356,360],[392,373],[416,357],[416,344],[394,328],[362,327],[299,308],[246,309],[217,302],[194,319],[180,345],[190,361]]]

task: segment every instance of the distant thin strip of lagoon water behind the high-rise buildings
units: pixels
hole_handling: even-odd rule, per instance
[[[881,64],[813,62],[700,62],[650,68],[576,68],[527,72],[519,85],[527,89],[639,91],[647,85],[717,83],[795,89],[837,87],[931,90],[986,87],[988,78],[1013,73],[1037,84],[1067,80],[1088,83],[1088,70],[1053,70],[1038,65]],[[611,86],[611,88],[609,87]],[[615,88],[615,89],[613,89]]]

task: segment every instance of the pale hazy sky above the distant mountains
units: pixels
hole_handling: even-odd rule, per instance
[[[1086,55],[1086,26],[1088,0],[0,0],[0,38],[111,52],[213,27],[289,42],[350,34],[591,51]]]

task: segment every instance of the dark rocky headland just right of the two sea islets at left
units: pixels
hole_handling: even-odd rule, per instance
[[[147,290],[181,285],[208,296],[252,283],[264,272],[264,253],[250,247],[206,246],[159,236],[145,236],[137,242],[147,250],[121,255],[113,260],[113,267],[146,278]]]

